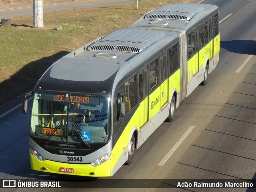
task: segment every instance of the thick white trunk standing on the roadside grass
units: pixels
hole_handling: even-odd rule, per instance
[[[33,28],[43,28],[43,0],[33,0]]]

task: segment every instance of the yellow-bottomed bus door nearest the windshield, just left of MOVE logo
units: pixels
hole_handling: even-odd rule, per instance
[[[148,121],[148,71],[139,72],[140,127]]]

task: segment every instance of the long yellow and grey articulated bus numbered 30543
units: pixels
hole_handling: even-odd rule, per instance
[[[33,170],[112,176],[219,60],[218,7],[172,4],[53,63],[32,97]]]

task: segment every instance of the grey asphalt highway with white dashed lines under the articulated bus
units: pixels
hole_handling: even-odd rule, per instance
[[[112,182],[115,179],[146,179],[146,184],[150,184],[148,179],[256,179],[256,1],[204,0],[202,3],[219,6],[221,20],[220,61],[208,76],[208,84],[197,87],[180,103],[176,119],[172,123],[162,123],[136,151],[131,165],[122,166],[114,176],[105,180],[98,178],[86,182],[75,178],[76,182],[67,180],[68,185],[101,187],[103,181]],[[30,170],[29,115],[21,111],[18,108],[0,118],[0,179],[63,179]],[[185,133],[188,133],[187,137],[180,142]],[[176,150],[163,162],[166,154],[177,144]],[[46,190],[252,192],[256,189],[33,189],[37,192]],[[20,192],[24,189],[8,191]]]

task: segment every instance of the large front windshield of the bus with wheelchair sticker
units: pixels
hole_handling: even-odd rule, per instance
[[[107,142],[110,96],[35,92],[30,137],[68,143]],[[89,143],[89,144],[88,144]]]

